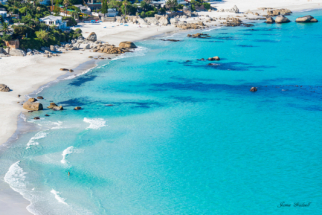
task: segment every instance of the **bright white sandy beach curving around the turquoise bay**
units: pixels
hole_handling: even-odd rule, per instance
[[[322,8],[322,0],[312,0],[310,2],[307,0],[226,0],[214,2],[212,5],[224,9],[230,9],[237,5],[241,12],[258,10],[260,7],[287,8],[296,12]],[[235,15],[219,12],[201,12],[200,14],[211,17]],[[118,26],[116,23],[82,24],[78,27],[82,29],[85,38],[91,32],[95,32],[98,40],[116,46],[122,41],[137,41],[179,30],[172,26],[142,26],[139,28],[137,25],[131,24],[129,26]],[[98,55],[105,56],[104,54],[93,53],[88,50],[77,50],[68,51],[59,57],[52,58],[35,55],[0,59],[0,84],[6,84],[12,89],[8,93],[0,92],[0,144],[7,142],[15,133],[18,115],[24,112],[22,102],[26,100],[26,95],[65,74],[66,72],[60,71],[60,68],[74,69],[78,65],[90,60],[89,56]],[[18,97],[18,95],[21,95],[21,97]],[[1,179],[0,214],[30,214],[25,210],[28,201],[20,198],[18,193],[10,190],[9,186],[3,183],[3,179]]]

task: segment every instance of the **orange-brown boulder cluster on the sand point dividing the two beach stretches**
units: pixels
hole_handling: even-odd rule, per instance
[[[119,44],[119,47],[110,45],[108,43],[97,45],[93,48],[93,52],[100,52],[106,54],[123,54],[130,52],[131,49],[137,48],[133,42],[125,41]]]

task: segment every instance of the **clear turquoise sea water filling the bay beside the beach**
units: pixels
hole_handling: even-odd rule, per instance
[[[321,11],[290,19],[307,14],[322,21]],[[28,114],[35,128],[0,157],[28,209],[320,214],[322,23],[207,33],[138,42],[125,58],[40,92],[44,106],[65,110]],[[213,56],[222,60],[197,60]]]

